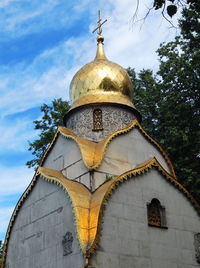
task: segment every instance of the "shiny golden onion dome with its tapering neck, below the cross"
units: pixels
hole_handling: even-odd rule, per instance
[[[134,108],[128,73],[106,58],[103,40],[101,35],[97,37],[95,59],[84,65],[71,81],[71,109],[94,103],[118,103]]]

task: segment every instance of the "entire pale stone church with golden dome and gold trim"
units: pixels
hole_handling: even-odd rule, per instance
[[[98,23],[96,57],[73,77],[64,127],[10,219],[3,267],[200,267],[200,206],[141,126]]]

